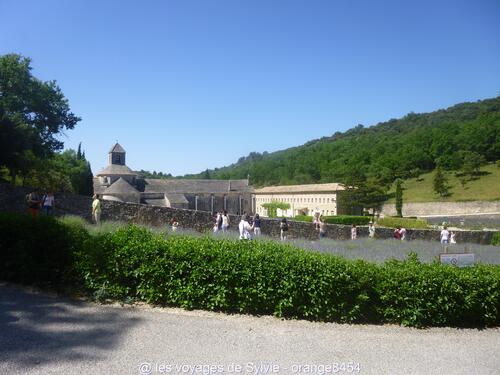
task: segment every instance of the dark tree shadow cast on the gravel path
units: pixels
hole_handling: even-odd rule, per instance
[[[99,360],[139,321],[121,309],[0,283],[0,363],[32,368],[49,362]]]

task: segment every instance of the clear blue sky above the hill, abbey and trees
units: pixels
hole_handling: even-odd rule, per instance
[[[0,0],[92,169],[196,173],[500,93],[500,1]]]

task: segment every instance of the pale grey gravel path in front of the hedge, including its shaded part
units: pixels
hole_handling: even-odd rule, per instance
[[[499,374],[500,329],[103,306],[0,284],[0,374],[141,373]]]

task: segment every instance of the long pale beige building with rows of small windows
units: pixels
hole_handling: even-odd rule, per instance
[[[255,211],[261,216],[268,216],[262,205],[278,201],[290,204],[288,210],[278,209],[278,216],[313,216],[315,213],[335,216],[339,214],[338,200],[342,190],[344,187],[336,183],[268,186],[254,191]]]

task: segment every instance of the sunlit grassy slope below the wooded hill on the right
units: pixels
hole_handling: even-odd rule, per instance
[[[455,172],[446,172],[450,186],[450,196],[440,197],[432,189],[435,171],[425,173],[419,178],[404,181],[404,202],[446,202],[446,201],[473,201],[473,200],[500,200],[500,168],[497,165],[485,165],[481,168],[483,175],[476,180],[469,181],[465,186]],[[394,203],[394,198],[389,200]]]

